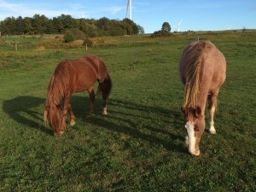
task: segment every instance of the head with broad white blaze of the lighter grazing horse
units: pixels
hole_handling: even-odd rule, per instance
[[[189,153],[198,156],[201,136],[205,131],[206,122],[201,108],[181,108],[184,115],[184,125],[188,132]]]

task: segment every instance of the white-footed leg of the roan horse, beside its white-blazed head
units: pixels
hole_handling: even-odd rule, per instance
[[[211,134],[215,134],[216,133],[216,130],[214,128],[214,113],[216,111],[216,108],[217,108],[217,96],[218,96],[218,93],[212,93],[211,95],[208,96],[208,101],[209,101],[209,114],[210,114],[210,129],[209,129],[209,132]]]

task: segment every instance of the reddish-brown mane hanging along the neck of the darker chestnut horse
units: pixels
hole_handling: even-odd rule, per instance
[[[55,73],[50,79],[48,86],[47,99],[45,103],[46,116],[44,113],[44,121],[48,123],[48,119],[53,127],[57,127],[61,119],[61,98],[65,94],[65,90],[69,85],[68,67],[70,63],[61,61],[55,68]]]

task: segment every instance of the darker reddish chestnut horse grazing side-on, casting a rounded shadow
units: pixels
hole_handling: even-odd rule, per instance
[[[55,73],[49,82],[47,100],[44,110],[44,122],[52,126],[55,137],[62,135],[66,129],[67,112],[70,116],[70,125],[75,125],[74,114],[70,100],[73,92],[87,90],[90,95],[90,109],[93,113],[95,93],[93,84],[98,81],[98,93],[103,98],[103,114],[107,114],[107,98],[112,88],[104,62],[96,55],[86,55],[78,60],[61,61],[55,68]],[[62,102],[63,101],[63,102]],[[61,103],[63,108],[61,111]]]

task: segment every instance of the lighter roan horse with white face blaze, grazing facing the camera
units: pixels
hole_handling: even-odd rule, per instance
[[[188,136],[189,153],[199,155],[199,144],[205,130],[205,108],[208,100],[210,133],[215,134],[213,116],[217,96],[226,77],[224,55],[210,41],[196,41],[183,50],[179,73],[185,84],[182,112]]]

